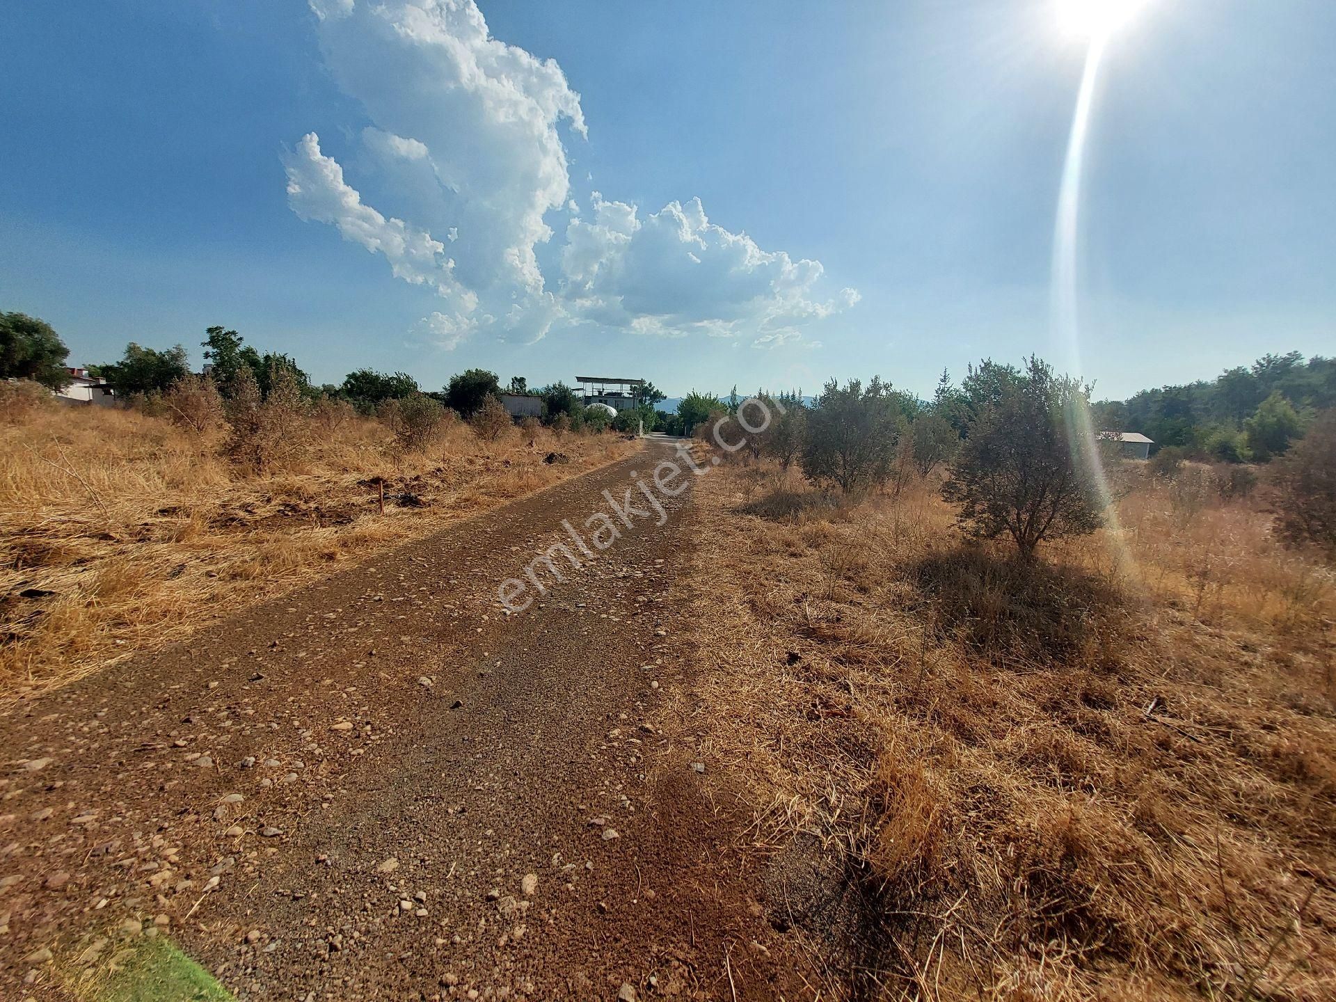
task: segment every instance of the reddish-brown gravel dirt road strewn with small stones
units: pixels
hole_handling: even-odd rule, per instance
[[[691,490],[497,601],[671,453],[0,716],[0,997],[154,930],[239,999],[808,997],[685,731]]]

